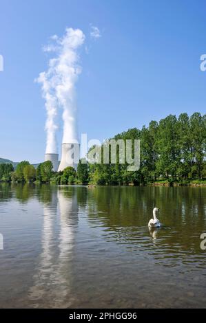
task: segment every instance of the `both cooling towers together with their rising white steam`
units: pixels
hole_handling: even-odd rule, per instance
[[[63,171],[70,166],[77,170],[80,159],[80,145],[76,129],[75,84],[81,74],[79,49],[85,41],[85,35],[79,29],[66,28],[62,37],[55,36],[54,56],[48,62],[48,70],[39,74],[37,82],[41,84],[42,97],[46,110],[46,148],[45,161],[52,161],[53,170]],[[51,44],[50,44],[51,45]],[[50,52],[49,47],[45,51]],[[62,111],[63,139],[62,153],[59,155],[56,131],[59,129],[58,113]]]

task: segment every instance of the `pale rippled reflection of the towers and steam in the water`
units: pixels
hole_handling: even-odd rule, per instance
[[[72,256],[78,205],[76,194],[65,197],[64,193],[55,191],[52,203],[43,208],[43,251],[37,264],[34,286],[30,289],[30,299],[36,302],[35,307],[70,307],[72,303]],[[56,221],[58,224],[54,226]]]

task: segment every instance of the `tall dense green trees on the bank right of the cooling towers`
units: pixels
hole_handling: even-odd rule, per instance
[[[152,121],[140,130],[120,133],[115,140],[141,140],[141,165],[135,172],[127,164],[92,164],[90,181],[97,184],[150,183],[179,181],[186,183],[206,177],[206,115],[182,113]]]

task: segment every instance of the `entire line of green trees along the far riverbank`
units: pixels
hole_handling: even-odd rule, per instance
[[[92,183],[97,185],[146,185],[156,181],[180,182],[206,178],[206,115],[187,113],[168,115],[149,126],[129,129],[114,140],[135,140],[141,143],[141,165],[134,172],[127,163],[97,164],[80,161],[77,171],[72,167],[53,172],[52,163],[45,161],[37,170],[28,161],[21,161],[16,170],[11,164],[0,164],[0,181],[37,181],[41,183]],[[100,147],[102,148],[102,147]],[[118,151],[118,146],[117,146]],[[118,154],[117,154],[118,155]]]

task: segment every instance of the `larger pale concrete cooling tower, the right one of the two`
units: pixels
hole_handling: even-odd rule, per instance
[[[64,170],[66,167],[74,167],[77,170],[80,156],[80,144],[70,143],[62,144],[61,163],[58,172]]]

